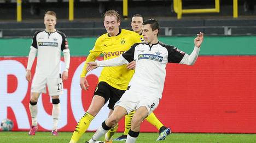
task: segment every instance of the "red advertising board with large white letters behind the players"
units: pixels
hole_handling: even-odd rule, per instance
[[[72,131],[89,107],[101,69],[88,74],[88,91],[80,90],[83,57],[72,57],[69,78],[61,96],[60,131]],[[31,83],[25,79],[27,58],[0,58],[0,120],[14,121],[14,130],[28,130]],[[63,64],[63,63],[62,63]],[[173,132],[256,133],[256,57],[199,57],[194,66],[167,64],[159,120]],[[34,71],[33,66],[33,70]],[[51,130],[51,99],[43,94],[38,101],[39,130]],[[89,130],[106,119],[107,107],[95,117]],[[119,131],[124,130],[124,121]],[[158,132],[144,121],[141,132]]]

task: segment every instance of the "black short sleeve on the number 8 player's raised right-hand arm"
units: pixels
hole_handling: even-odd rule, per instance
[[[179,63],[186,53],[182,52],[174,46],[167,46],[168,63]]]

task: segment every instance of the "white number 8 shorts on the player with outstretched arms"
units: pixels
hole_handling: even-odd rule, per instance
[[[128,114],[132,110],[137,110],[139,107],[146,107],[148,109],[148,115],[149,115],[159,105],[159,100],[160,100],[159,97],[142,96],[134,92],[131,95],[131,93],[127,91],[120,98],[120,100],[117,103],[115,103],[115,106],[124,107]]]

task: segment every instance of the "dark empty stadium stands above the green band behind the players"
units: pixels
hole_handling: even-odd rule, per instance
[[[238,18],[232,18],[232,1],[220,1],[220,13],[187,14],[177,20],[172,9],[172,0],[129,1],[129,18],[122,20],[121,27],[130,28],[130,18],[142,14],[160,22],[160,35],[194,35],[202,31],[207,35],[255,35],[255,11],[245,11],[244,2],[238,1]],[[106,32],[102,13],[108,9],[118,10],[122,15],[121,0],[74,0],[74,21],[68,21],[68,0],[24,0],[22,22],[16,22],[16,0],[0,0],[0,37],[32,36],[44,28],[46,10],[57,13],[57,29],[68,36],[98,36]],[[183,7],[211,8],[214,0],[183,0]]]

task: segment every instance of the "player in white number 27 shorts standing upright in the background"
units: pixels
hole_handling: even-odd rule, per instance
[[[53,102],[53,135],[58,135],[57,124],[60,118],[60,99],[63,94],[62,80],[68,78],[70,54],[67,38],[64,33],[55,29],[56,14],[54,11],[47,11],[44,15],[45,29],[36,32],[28,55],[26,79],[31,82],[31,67],[37,54],[36,72],[31,85],[30,114],[32,127],[29,135],[34,135],[38,130],[37,126],[37,101],[40,94],[46,93],[46,86]],[[61,51],[65,59],[65,70],[61,74]]]

